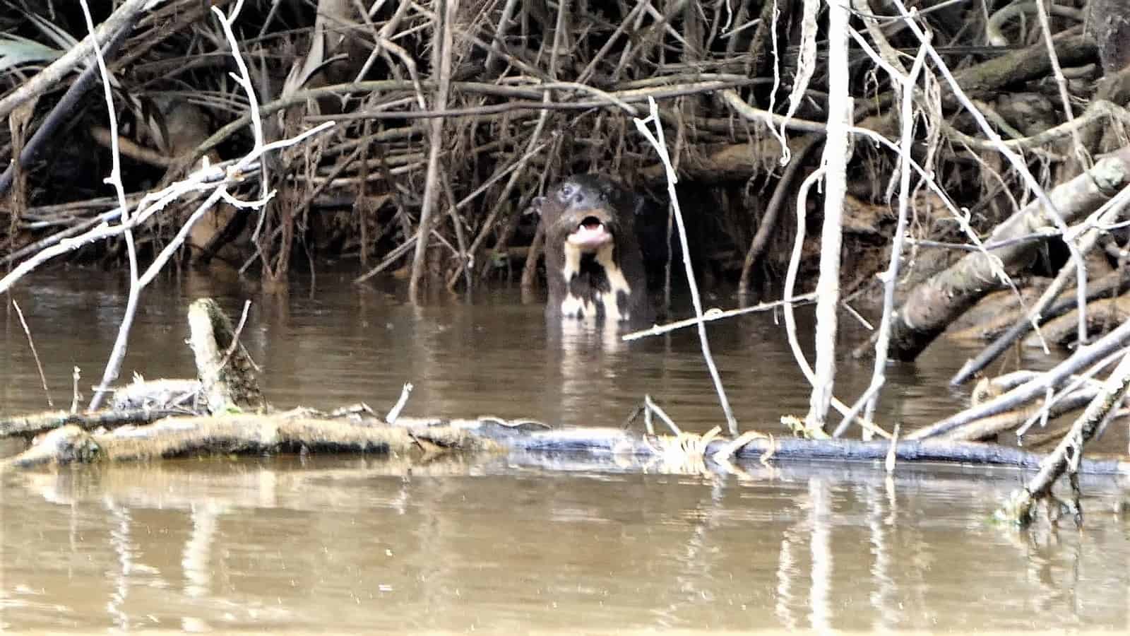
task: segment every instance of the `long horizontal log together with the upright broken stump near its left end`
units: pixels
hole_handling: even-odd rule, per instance
[[[897,462],[940,462],[991,466],[1037,469],[1044,455],[996,444],[953,440],[907,439],[892,444],[842,439],[774,438],[753,431],[734,439],[714,429],[705,435],[658,436],[624,429],[553,429],[532,420],[506,421],[492,416],[473,419],[395,418],[388,423],[373,415],[367,406],[347,407],[332,414],[310,409],[266,413],[254,367],[232,333],[231,324],[210,299],[190,308],[192,346],[200,366],[200,381],[137,381],[120,389],[120,404],[159,404],[169,406],[199,390],[207,396],[210,415],[167,416],[148,426],[125,426],[111,431],[89,432],[85,428],[106,423],[148,421],[153,409],[75,415],[54,413],[38,419],[10,420],[11,430],[38,432],[31,448],[0,461],[0,471],[76,463],[130,463],[171,457],[209,455],[262,455],[282,453],[364,453],[389,457],[421,457],[437,454],[499,454],[513,457],[546,457],[566,462],[573,469],[590,462],[593,469],[609,461],[618,466],[652,472],[696,473],[732,471],[736,462],[836,462],[879,464]],[[1127,326],[1121,332],[1130,329]],[[1107,340],[1124,334],[1112,334]],[[236,343],[236,344],[233,344]],[[1099,343],[1092,346],[1099,347]],[[1092,355],[1096,353],[1090,352]],[[1066,373],[1066,371],[1064,371]],[[999,383],[1023,381],[1014,373]],[[1036,384],[1029,380],[1027,384]],[[1003,386],[1003,385],[1002,385]],[[1018,387],[1023,389],[1024,386]],[[1014,389],[1014,390],[1018,390]],[[197,394],[199,395],[199,394]],[[999,398],[997,398],[999,399]],[[197,399],[201,402],[201,399]],[[990,401],[990,404],[996,399]],[[260,413],[246,413],[238,405],[255,406]],[[257,406],[258,405],[258,406]],[[233,409],[232,406],[236,406]],[[133,420],[129,418],[132,416]],[[28,423],[33,422],[33,423]],[[1087,459],[1084,472],[1130,474],[1130,462],[1121,458]]]

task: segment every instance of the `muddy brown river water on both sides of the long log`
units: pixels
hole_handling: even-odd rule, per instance
[[[402,302],[322,274],[266,300],[192,274],[142,298],[123,366],[183,377],[184,307],[253,301],[243,341],[277,405],[619,426],[647,393],[687,430],[722,422],[696,335],[607,346],[547,334],[515,291]],[[56,406],[71,369],[89,393],[124,309],[121,277],[36,274],[18,290]],[[730,306],[730,300],[709,299]],[[0,411],[43,409],[10,303],[0,310]],[[801,313],[802,328],[810,325]],[[862,337],[844,318],[844,337]],[[710,328],[736,414],[781,433],[808,392],[772,316]],[[808,341],[810,338],[806,338]],[[940,341],[892,366],[880,419],[921,426],[964,397],[973,352]],[[1048,361],[1025,361],[1046,366]],[[853,399],[868,366],[841,363]],[[0,454],[18,452],[0,442]],[[104,631],[685,633],[801,629],[1123,630],[1130,624],[1124,483],[1084,481],[1087,523],[989,522],[1010,470],[748,466],[672,475],[567,459],[362,456],[188,459],[0,478],[0,629]]]

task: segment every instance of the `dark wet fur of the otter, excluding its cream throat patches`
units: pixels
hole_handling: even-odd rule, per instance
[[[603,306],[598,301],[601,292],[611,290],[608,274],[594,253],[581,256],[580,272],[565,282],[565,242],[586,216],[598,216],[612,234],[612,260],[619,266],[632,289],[629,294],[617,298],[620,313],[627,312],[631,325],[647,325],[654,320],[654,310],[647,296],[643,255],[635,232],[635,215],[642,199],[625,190],[611,179],[596,174],[577,174],[562,181],[545,197],[534,200],[546,227],[546,277],[549,300],[546,317],[562,316],[562,301],[572,293],[579,299],[593,301],[598,319],[603,319]],[[596,213],[596,214],[594,214]]]

